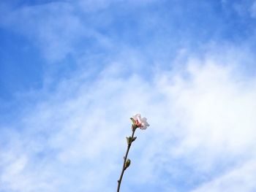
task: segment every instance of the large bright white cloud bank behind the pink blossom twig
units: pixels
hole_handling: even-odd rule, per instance
[[[122,67],[132,53],[90,82],[84,72],[62,80],[28,109],[16,131],[2,131],[0,191],[115,190],[135,112],[151,126],[136,133],[124,191],[136,191],[133,184],[179,191],[186,180],[187,191],[208,185],[220,191],[237,180],[249,191],[255,175],[241,168],[249,178],[243,182],[233,169],[255,160],[256,80],[239,72],[249,54],[224,50],[178,58],[183,67],[157,69],[154,80],[140,75],[144,65]]]

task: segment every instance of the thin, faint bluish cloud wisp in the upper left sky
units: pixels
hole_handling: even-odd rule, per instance
[[[54,2],[9,8],[0,24],[34,42],[49,63],[63,61],[69,54],[78,56],[86,52],[86,46],[110,47],[110,40],[95,30],[95,18],[81,17],[75,6]]]

